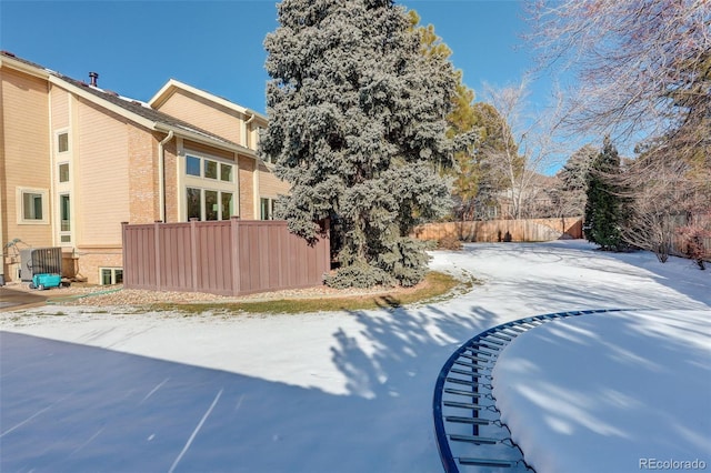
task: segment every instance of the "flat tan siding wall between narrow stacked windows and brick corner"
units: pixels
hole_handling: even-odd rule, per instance
[[[77,245],[120,244],[121,222],[130,220],[128,125],[83,100],[78,104]]]

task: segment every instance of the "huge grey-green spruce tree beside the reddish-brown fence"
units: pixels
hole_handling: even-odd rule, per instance
[[[451,63],[421,53],[392,0],[284,0],[278,12],[261,139],[292,185],[277,215],[311,241],[331,219],[341,268],[330,285],[418,283],[428,255],[410,231],[451,205],[440,172],[453,163]]]

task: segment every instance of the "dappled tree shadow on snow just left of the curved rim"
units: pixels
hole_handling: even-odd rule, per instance
[[[417,412],[431,423],[431,396],[442,364],[463,342],[495,324],[495,314],[437,306],[389,308],[350,312],[362,328],[359,339],[337,331],[332,361],[346,374],[348,391],[365,399],[414,399]],[[431,386],[422,390],[421,386]],[[420,391],[420,392],[418,392]]]

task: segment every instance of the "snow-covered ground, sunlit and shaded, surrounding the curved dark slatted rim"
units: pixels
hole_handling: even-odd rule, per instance
[[[579,309],[664,309],[682,319],[687,310],[695,314],[684,319],[690,335],[709,346],[711,271],[689,261],[662,265],[651,254],[608,254],[565,241],[472,244],[437,253],[432,266],[469,272],[483,284],[447,302],[363,312],[183,318],[54,306],[0,313],[0,471],[435,472],[437,374],[452,351],[487,328]],[[605,348],[588,339],[595,354]],[[628,342],[610,341],[620,350]],[[679,363],[688,348],[704,353],[695,342],[674,346],[665,355]],[[585,360],[595,366],[597,356]],[[701,364],[699,375],[708,376],[709,363]],[[548,382],[578,389],[555,373]],[[661,399],[658,410],[708,399],[711,383],[703,381],[698,391]],[[594,436],[580,432],[572,431],[572,443],[604,454],[585,443]],[[711,440],[703,435],[687,437],[700,442],[698,456],[711,467]]]

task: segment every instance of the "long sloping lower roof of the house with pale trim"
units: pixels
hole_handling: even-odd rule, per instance
[[[172,115],[158,111],[151,108],[148,103],[140,100],[130,99],[119,95],[117,92],[103,90],[94,85],[90,85],[83,81],[72,79],[68,76],[47,69],[40,64],[28,61],[22,58],[18,58],[8,51],[0,51],[0,61],[13,61],[19,63],[20,69],[33,73],[38,77],[47,78],[51,83],[59,87],[71,89],[77,94],[108,108],[109,110],[117,112],[129,120],[132,120],[143,127],[151,130],[169,132],[173,131],[180,135],[192,140],[199,140],[208,142],[221,148],[228,148],[230,150],[240,151],[242,153],[253,155],[254,151],[241,144],[234,143],[230,140],[226,140],[214,133],[196,127],[191,123],[177,119]],[[28,70],[28,68],[30,68]]]

